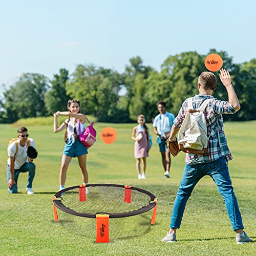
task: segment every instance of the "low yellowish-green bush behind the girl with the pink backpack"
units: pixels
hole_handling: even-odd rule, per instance
[[[90,122],[96,122],[97,118],[87,115]],[[58,117],[58,124],[62,123],[67,119],[66,116]],[[47,117],[32,117],[32,118],[21,118],[17,122],[13,123],[14,126],[26,126],[26,125],[53,125],[53,116]]]

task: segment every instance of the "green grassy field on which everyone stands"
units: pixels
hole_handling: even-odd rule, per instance
[[[117,140],[104,144],[100,131],[112,126]],[[1,255],[256,255],[256,244],[238,245],[225,204],[214,182],[204,177],[188,200],[177,243],[163,243],[179,186],[185,155],[172,158],[171,179],[162,179],[158,146],[153,144],[147,159],[146,180],[138,180],[131,140],[134,124],[96,123],[98,141],[89,150],[89,183],[127,184],[151,191],[158,199],[156,224],[152,210],[142,215],[110,219],[110,243],[95,242],[95,219],[76,217],[58,210],[54,222],[52,198],[58,190],[58,175],[63,150],[63,133],[54,134],[52,125],[27,125],[39,156],[35,160],[35,194],[26,194],[27,174],[20,174],[19,193],[9,195],[6,183],[7,145],[16,137],[17,127],[0,125],[0,253]],[[238,198],[247,234],[256,238],[256,122],[225,123],[234,159],[230,176]],[[150,126],[151,134],[152,127]],[[156,137],[153,136],[154,142]],[[81,184],[77,159],[73,159],[66,187]]]

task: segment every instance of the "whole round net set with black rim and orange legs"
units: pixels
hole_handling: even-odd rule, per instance
[[[58,191],[53,198],[54,220],[57,208],[68,214],[96,218],[96,242],[109,242],[109,218],[142,214],[154,208],[151,224],[155,224],[157,199],[147,190],[117,184],[88,184]]]

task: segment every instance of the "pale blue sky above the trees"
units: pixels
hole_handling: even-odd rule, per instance
[[[255,10],[252,0],[0,0],[0,84],[27,72],[51,79],[78,64],[122,72],[137,55],[159,70],[169,55],[211,48],[248,61],[256,57]]]

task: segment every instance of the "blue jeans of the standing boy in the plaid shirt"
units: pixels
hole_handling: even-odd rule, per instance
[[[218,187],[224,202],[233,230],[244,228],[239,211],[238,201],[233,192],[231,179],[225,157],[203,164],[186,164],[180,187],[174,202],[170,228],[180,228],[181,220],[188,198],[194,187],[205,175],[209,175]]]

